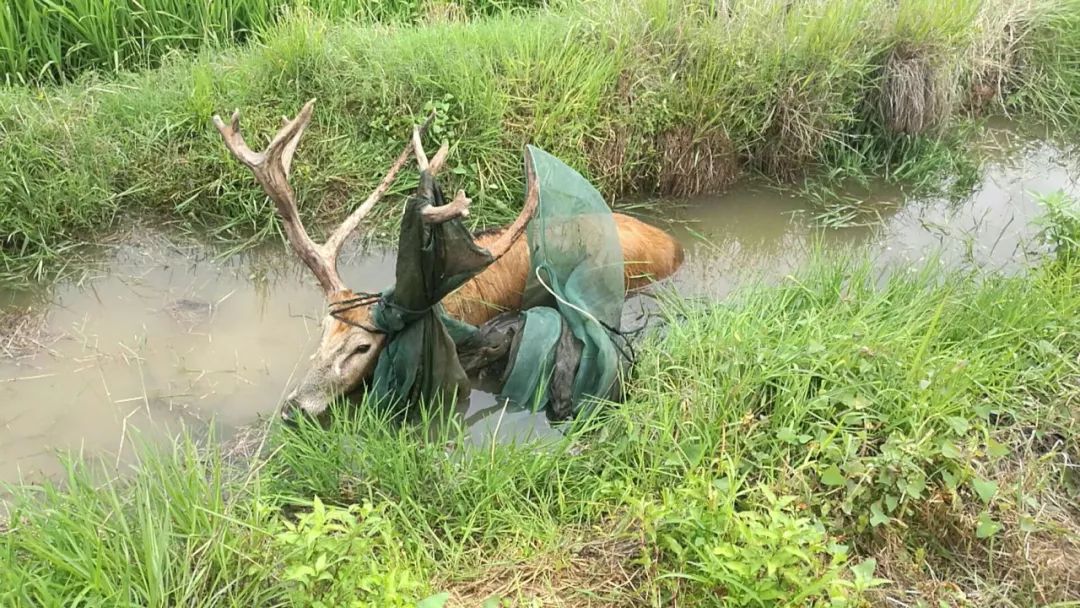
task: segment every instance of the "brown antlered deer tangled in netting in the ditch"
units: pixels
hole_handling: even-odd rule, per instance
[[[434,176],[449,153],[446,143],[430,159],[423,150],[421,136],[434,118],[432,113],[422,125],[414,126],[410,141],[367,199],[333,229],[323,243],[316,243],[300,220],[296,194],[289,185],[293,157],[311,120],[314,104],[312,98],[295,118],[283,117],[281,129],[259,152],[252,150],[240,133],[239,109],[232,113],[229,123],[218,114],[213,117],[225,146],[251,170],[273,202],[288,244],[314,275],[326,298],[322,337],[310,356],[310,368],[281,404],[280,415],[286,421],[294,420],[301,413],[320,416],[330,403],[353,393],[373,376],[388,337],[372,321],[370,305],[377,298],[350,289],[338,274],[341,247],[353,233],[360,232],[361,222],[391,188],[411,157],[416,158],[420,171]],[[535,186],[536,176],[529,167],[526,178],[530,186]],[[539,199],[536,188],[530,187],[526,191],[530,194],[526,197],[519,215],[509,226],[473,234],[474,242],[487,249],[495,261],[442,301],[445,311],[455,319],[480,326],[500,313],[521,309],[530,272],[527,239],[522,237]],[[471,202],[463,190],[458,190],[449,203],[423,208],[421,217],[424,222],[431,224],[468,217]],[[612,215],[623,252],[627,292],[638,291],[678,270],[684,260],[678,241],[636,218],[618,213]]]

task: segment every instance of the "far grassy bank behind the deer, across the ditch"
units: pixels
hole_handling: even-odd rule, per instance
[[[955,177],[969,117],[1077,122],[1078,15],[1077,0],[594,0],[405,29],[300,14],[264,42],[159,70],[0,90],[0,268],[52,272],[140,211],[273,234],[210,118],[243,108],[265,140],[310,97],[295,175],[309,224],[366,195],[432,108],[477,224],[514,215],[526,141],[612,197],[720,191],[746,172]]]

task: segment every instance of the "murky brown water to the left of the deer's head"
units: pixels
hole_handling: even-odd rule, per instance
[[[348,271],[375,287],[393,258]],[[231,429],[272,411],[318,342],[321,298],[276,247],[225,261],[154,239],[117,247],[104,272],[51,289],[62,339],[0,360],[0,479],[49,470],[52,448],[114,452],[133,428]]]

